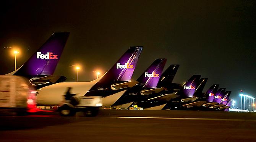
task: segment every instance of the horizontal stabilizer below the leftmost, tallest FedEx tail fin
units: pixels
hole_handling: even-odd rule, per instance
[[[37,85],[42,85],[42,84],[47,84],[47,83],[58,83],[58,82],[63,82],[66,80],[65,76],[44,76],[44,77],[34,77],[29,80],[29,82],[33,86]]]

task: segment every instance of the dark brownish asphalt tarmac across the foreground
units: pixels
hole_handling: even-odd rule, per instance
[[[256,141],[256,113],[101,110],[96,117],[56,112],[0,116],[0,141]]]

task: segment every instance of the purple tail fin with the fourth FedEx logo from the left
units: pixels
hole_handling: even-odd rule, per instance
[[[201,75],[193,75],[183,86],[183,94],[185,97],[193,97],[194,92],[199,84]]]

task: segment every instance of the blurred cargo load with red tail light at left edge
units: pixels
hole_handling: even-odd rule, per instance
[[[0,111],[26,115],[36,112],[36,92],[21,76],[0,75]]]

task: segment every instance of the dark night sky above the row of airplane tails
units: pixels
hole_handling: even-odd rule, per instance
[[[10,49],[19,47],[21,66],[53,32],[71,32],[56,75],[79,81],[107,71],[130,46],[141,45],[133,79],[156,58],[180,64],[173,82],[193,74],[238,96],[256,97],[256,1],[37,0],[0,2],[1,72],[14,70]],[[254,11],[254,12],[253,12]],[[236,98],[238,100],[238,97]],[[237,101],[238,102],[238,101]]]

